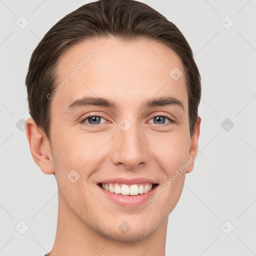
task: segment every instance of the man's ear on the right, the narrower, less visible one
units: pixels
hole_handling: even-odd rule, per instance
[[[191,137],[191,146],[188,154],[187,163],[189,166],[186,168],[186,173],[189,173],[194,168],[194,160],[198,151],[198,139],[200,134],[201,118],[197,116],[196,123],[194,125],[193,135]]]

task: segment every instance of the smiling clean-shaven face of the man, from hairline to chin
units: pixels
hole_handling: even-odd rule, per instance
[[[70,48],[57,73],[63,86],[49,100],[59,210],[110,239],[149,236],[175,207],[193,164],[180,166],[197,152],[181,60],[159,42],[110,37]]]

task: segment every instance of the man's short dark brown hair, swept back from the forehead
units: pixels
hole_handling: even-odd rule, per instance
[[[50,139],[50,100],[56,87],[59,57],[84,39],[113,35],[129,41],[152,39],[171,48],[181,59],[188,94],[190,136],[198,116],[201,81],[192,50],[180,30],[162,14],[135,0],[98,0],[82,5],[60,19],[34,49],[25,79],[28,108],[36,125]]]

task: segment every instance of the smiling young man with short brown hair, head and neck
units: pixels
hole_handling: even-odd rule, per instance
[[[59,189],[45,255],[165,255],[200,132],[200,75],[178,28],[138,1],[85,4],[37,45],[26,86],[31,154]]]

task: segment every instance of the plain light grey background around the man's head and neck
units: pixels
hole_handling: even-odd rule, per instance
[[[47,30],[87,2],[0,0],[1,256],[52,248],[57,185],[33,161],[22,131],[29,117],[24,78]],[[144,2],[181,30],[202,77],[201,156],[169,215],[166,255],[256,255],[256,1]]]

